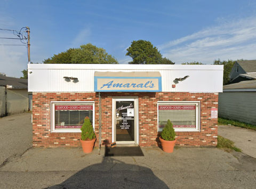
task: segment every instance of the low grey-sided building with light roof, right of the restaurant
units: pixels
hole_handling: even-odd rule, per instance
[[[219,93],[219,117],[256,125],[256,80],[223,86]]]

